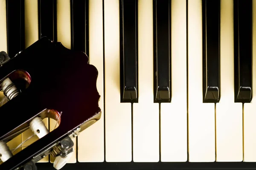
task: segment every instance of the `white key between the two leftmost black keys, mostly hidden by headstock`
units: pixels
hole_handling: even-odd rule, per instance
[[[38,1],[25,0],[24,12],[25,12],[25,48],[27,48],[38,40]],[[49,120],[44,119],[43,122],[45,126],[48,128]],[[26,146],[29,146],[30,144],[38,140],[38,136],[33,136],[34,133],[30,129],[26,130],[21,135],[22,135],[22,142],[24,142],[22,144],[22,149],[25,149]],[[33,137],[31,138],[31,136]],[[38,162],[48,162],[48,161],[49,161],[49,157],[46,156],[44,159],[41,159]]]

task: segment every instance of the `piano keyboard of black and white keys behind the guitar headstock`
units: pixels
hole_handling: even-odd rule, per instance
[[[0,51],[47,36],[98,69],[102,118],[64,170],[253,168],[255,24],[255,0],[2,0]]]

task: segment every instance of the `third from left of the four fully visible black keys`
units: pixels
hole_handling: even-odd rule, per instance
[[[203,102],[220,99],[220,0],[203,0]]]

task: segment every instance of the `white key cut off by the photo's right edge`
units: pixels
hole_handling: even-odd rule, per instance
[[[253,73],[256,73],[256,1],[253,0]],[[244,161],[256,161],[256,74],[253,74],[253,99],[244,103]]]

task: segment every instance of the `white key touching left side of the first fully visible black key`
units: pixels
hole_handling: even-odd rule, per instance
[[[131,161],[131,103],[120,103],[119,0],[104,1],[105,156]]]

